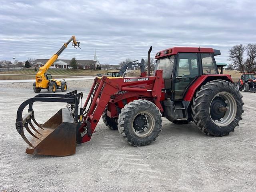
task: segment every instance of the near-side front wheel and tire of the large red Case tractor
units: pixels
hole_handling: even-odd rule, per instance
[[[122,108],[118,131],[129,144],[145,146],[156,140],[162,129],[158,107],[148,100],[134,100]]]

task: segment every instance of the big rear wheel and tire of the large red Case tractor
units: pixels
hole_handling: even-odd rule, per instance
[[[234,84],[212,80],[201,86],[192,103],[192,117],[206,135],[224,136],[234,131],[242,119],[244,102]]]

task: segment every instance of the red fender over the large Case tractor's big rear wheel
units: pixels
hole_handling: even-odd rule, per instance
[[[222,74],[222,75],[209,74],[209,75],[198,76],[198,78],[196,78],[196,80],[194,80],[194,82],[192,82],[192,84],[188,88],[184,96],[184,101],[189,101],[189,102],[192,101],[192,98],[196,94],[196,90],[200,89],[200,87],[206,84],[207,82],[212,80],[217,80],[217,79],[222,79],[222,80],[226,80],[228,82],[233,83],[231,76],[226,74]]]

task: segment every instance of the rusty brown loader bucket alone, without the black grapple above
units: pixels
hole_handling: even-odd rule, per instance
[[[38,128],[27,154],[67,156],[76,153],[76,123],[68,109],[62,108]]]

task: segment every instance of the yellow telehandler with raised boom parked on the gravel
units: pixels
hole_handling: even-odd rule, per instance
[[[58,59],[58,56],[67,48],[68,44],[72,42],[72,46],[80,48],[80,42],[76,40],[75,36],[72,36],[64,45],[54,54],[44,66],[39,68],[38,73],[36,74],[36,82],[33,83],[33,90],[35,93],[39,93],[41,89],[48,89],[50,93],[55,93],[57,89],[61,91],[67,90],[67,83],[65,80],[58,81],[52,78],[51,74],[46,74],[46,71],[50,66]]]

